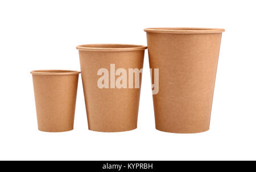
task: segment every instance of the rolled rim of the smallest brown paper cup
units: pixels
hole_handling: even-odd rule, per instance
[[[80,71],[72,70],[34,70],[31,71],[32,75],[78,75]]]

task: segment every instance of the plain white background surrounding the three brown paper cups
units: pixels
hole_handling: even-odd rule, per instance
[[[254,1],[1,1],[0,160],[256,160]],[[37,130],[31,70],[80,70],[76,45],[146,45],[147,27],[225,28],[210,131],[155,130],[147,51],[138,129],[88,130],[81,78],[75,130]]]

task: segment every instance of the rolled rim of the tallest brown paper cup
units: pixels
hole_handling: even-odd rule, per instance
[[[198,34],[198,33],[222,33],[225,29],[221,28],[146,28],[145,32],[150,33],[180,33],[180,34]]]

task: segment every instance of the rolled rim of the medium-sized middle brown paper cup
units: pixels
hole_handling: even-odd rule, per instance
[[[84,44],[76,46],[82,51],[141,51],[147,49],[144,45],[133,44]]]

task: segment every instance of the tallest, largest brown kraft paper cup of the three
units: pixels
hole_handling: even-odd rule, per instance
[[[159,68],[153,95],[156,129],[209,130],[221,34],[224,29],[147,28],[150,68]]]

